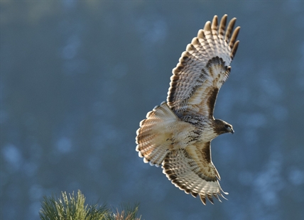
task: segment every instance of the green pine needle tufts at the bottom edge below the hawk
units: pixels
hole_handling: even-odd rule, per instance
[[[139,211],[139,204],[131,206],[125,204],[115,213],[107,205],[89,206],[85,204],[85,196],[78,190],[67,196],[62,192],[62,197],[56,199],[55,196],[43,197],[40,209],[41,220],[140,220],[136,218]]]

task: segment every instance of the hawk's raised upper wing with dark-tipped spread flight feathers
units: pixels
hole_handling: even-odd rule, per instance
[[[239,45],[240,27],[232,33],[236,20],[232,18],[226,28],[227,15],[219,25],[215,16],[187,45],[170,78],[167,101],[176,114],[198,112],[213,117],[217,93],[229,77],[229,65]]]

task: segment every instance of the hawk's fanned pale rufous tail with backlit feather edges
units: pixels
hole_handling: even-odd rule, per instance
[[[178,119],[165,101],[149,111],[146,118],[139,123],[140,128],[136,131],[136,151],[144,163],[158,167],[168,150],[173,148],[176,128],[184,122]]]

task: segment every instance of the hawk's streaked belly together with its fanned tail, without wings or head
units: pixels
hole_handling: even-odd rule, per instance
[[[165,102],[148,112],[146,118],[137,130],[136,150],[151,165],[161,165],[170,150],[207,143],[217,136],[210,119],[200,115],[179,118]]]

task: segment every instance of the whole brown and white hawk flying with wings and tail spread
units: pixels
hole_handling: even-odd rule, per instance
[[[219,185],[210,143],[222,133],[234,133],[213,111],[239,45],[236,20],[227,27],[227,15],[219,23],[217,16],[207,21],[173,69],[167,101],[148,112],[136,131],[136,151],[143,162],[162,165],[173,185],[199,196],[203,204],[227,194]]]

